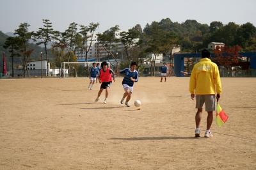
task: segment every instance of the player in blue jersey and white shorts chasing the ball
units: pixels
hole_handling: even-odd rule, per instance
[[[130,68],[125,68],[124,70],[120,70],[120,73],[125,73],[124,79],[122,81],[125,93],[121,99],[121,104],[124,104],[124,99],[126,98],[125,105],[130,107],[129,100],[131,99],[131,94],[133,91],[134,82],[138,82],[139,73],[136,71],[137,63],[132,62]]]

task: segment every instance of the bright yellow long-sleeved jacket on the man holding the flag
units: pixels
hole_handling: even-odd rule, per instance
[[[218,66],[209,58],[202,58],[193,67],[189,81],[189,91],[196,95],[221,93],[221,81]]]

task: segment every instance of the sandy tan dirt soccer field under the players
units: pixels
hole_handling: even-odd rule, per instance
[[[230,117],[210,139],[194,137],[188,77],[140,78],[141,110],[119,104],[121,81],[95,104],[88,79],[1,80],[0,169],[256,169],[255,78],[221,79]]]

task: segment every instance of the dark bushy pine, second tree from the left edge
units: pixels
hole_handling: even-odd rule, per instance
[[[26,67],[27,67],[27,58],[31,55],[30,50],[28,49],[28,41],[31,39],[31,36],[33,35],[33,32],[28,31],[28,27],[30,25],[28,23],[21,23],[18,29],[15,29],[15,35],[18,35],[17,38],[19,38],[19,49],[20,54],[23,56],[23,77],[26,77]]]

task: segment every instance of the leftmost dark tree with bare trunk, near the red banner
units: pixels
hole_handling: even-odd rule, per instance
[[[15,56],[20,56],[19,50],[20,50],[20,38],[17,36],[9,36],[6,41],[4,42],[4,49],[8,49],[8,51],[11,53],[12,58],[12,77],[14,77],[13,72],[13,58]]]

